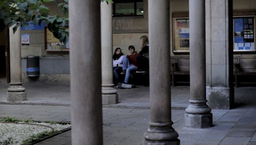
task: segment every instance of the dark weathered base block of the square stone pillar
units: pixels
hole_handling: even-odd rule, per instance
[[[234,93],[231,88],[206,87],[206,99],[212,109],[232,109]]]

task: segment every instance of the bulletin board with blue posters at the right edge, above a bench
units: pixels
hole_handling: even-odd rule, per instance
[[[255,16],[233,17],[234,52],[255,52]]]

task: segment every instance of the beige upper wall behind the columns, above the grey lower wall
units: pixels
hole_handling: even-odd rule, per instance
[[[51,14],[59,13],[54,4],[47,4]],[[128,46],[135,45],[135,49],[140,51],[140,37],[148,36],[148,0],[144,0],[143,17],[113,17],[113,51],[120,47],[124,54],[129,54]],[[233,0],[233,9],[256,9],[256,0]],[[174,54],[172,42],[172,13],[177,11],[189,11],[189,0],[170,0],[170,50],[171,56],[188,56],[189,54]],[[69,57],[69,52],[46,52],[44,50],[44,31],[30,30],[21,31],[30,33],[30,46],[22,46],[22,58],[28,55],[36,56],[64,56]],[[251,55],[245,53],[235,53],[236,56]],[[254,54],[253,54],[254,55]]]

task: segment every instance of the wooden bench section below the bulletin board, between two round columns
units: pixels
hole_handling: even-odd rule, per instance
[[[189,57],[171,57],[171,84],[174,87],[174,75],[189,75]],[[177,82],[177,81],[176,81]],[[179,82],[189,83],[189,82]]]

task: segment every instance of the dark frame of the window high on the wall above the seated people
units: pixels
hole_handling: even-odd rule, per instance
[[[137,2],[143,2],[143,0],[113,0],[113,17],[130,17],[130,16],[139,16],[143,17],[143,15],[137,15]],[[116,3],[133,3],[134,4],[134,15],[116,15],[115,14],[115,4]],[[143,10],[144,11],[144,10]]]

